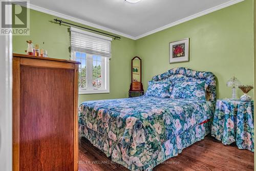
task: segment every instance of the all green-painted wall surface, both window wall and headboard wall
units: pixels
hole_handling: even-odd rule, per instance
[[[219,98],[231,96],[231,89],[226,87],[226,81],[233,74],[243,84],[253,84],[252,3],[251,0],[245,0],[138,40],[125,37],[113,40],[110,93],[79,95],[79,103],[127,97],[131,83],[131,59],[135,55],[142,58],[144,90],[147,88],[147,81],[154,75],[174,67],[213,72],[217,76]],[[14,36],[13,52],[25,53],[26,40],[31,39],[34,44],[39,44],[39,48],[48,50],[50,57],[69,59],[69,27],[52,23],[55,16],[46,13],[31,10],[30,15],[30,36]],[[169,42],[186,37],[190,38],[189,62],[170,64]],[[238,96],[242,94],[238,90]],[[253,91],[249,94],[252,96]]]

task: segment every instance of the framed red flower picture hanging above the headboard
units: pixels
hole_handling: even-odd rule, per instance
[[[189,38],[169,43],[170,63],[189,61]]]

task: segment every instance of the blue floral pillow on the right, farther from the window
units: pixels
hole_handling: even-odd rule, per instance
[[[205,100],[205,81],[176,82],[170,98]]]

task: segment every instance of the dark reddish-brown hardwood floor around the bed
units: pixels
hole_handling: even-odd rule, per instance
[[[159,164],[153,170],[253,170],[253,153],[235,145],[223,145],[211,136],[183,149],[177,157]],[[103,152],[82,138],[79,144],[79,171],[129,170],[111,163]]]

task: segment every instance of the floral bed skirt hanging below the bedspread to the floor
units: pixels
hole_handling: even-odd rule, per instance
[[[197,141],[204,139],[210,133],[212,122],[198,124],[181,135],[170,137],[169,140],[161,144],[161,149],[154,154],[143,152],[146,158],[148,155],[153,155],[154,160],[143,163],[139,158],[129,157],[122,148],[122,144],[110,139],[108,136],[102,135],[89,129],[87,126],[79,124],[79,137],[87,138],[94,146],[99,148],[111,157],[111,160],[119,163],[130,170],[152,170],[156,165],[165,160],[178,156],[182,149],[194,144]],[[143,157],[142,157],[143,159]]]

